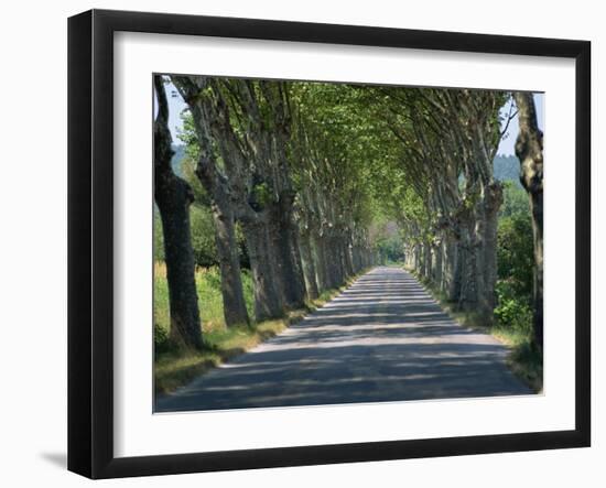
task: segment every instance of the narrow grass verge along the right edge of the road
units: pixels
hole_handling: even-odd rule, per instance
[[[495,324],[493,326],[486,326],[478,314],[457,311],[455,304],[448,302],[446,295],[433,286],[429,280],[420,276],[410,269],[407,269],[407,271],[414,274],[428,293],[430,293],[442,308],[458,324],[464,327],[488,333],[502,343],[509,349],[507,365],[513,375],[535,393],[541,393],[543,391],[543,358],[532,346],[530,328],[526,330],[512,328],[505,324],[500,324],[497,318],[495,318]]]

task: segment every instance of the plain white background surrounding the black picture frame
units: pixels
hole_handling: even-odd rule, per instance
[[[68,15],[89,8],[301,20],[593,42],[593,164],[606,111],[606,31],[600,3],[490,3],[473,0],[123,0],[4,2],[0,35],[0,484],[89,485],[65,470],[66,456],[66,80]],[[572,162],[571,162],[572,164]],[[605,172],[594,171],[594,446],[587,449],[362,463],[111,480],[104,486],[452,486],[602,487],[606,484],[606,360],[599,345],[606,245]],[[599,224],[598,220],[602,220]],[[562,257],[562,265],[571,257]],[[572,300],[572,297],[571,297]],[[353,426],[355,429],[355,426]]]

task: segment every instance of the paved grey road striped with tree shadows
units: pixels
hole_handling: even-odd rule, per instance
[[[156,412],[530,394],[491,336],[454,323],[419,282],[375,268],[291,326],[170,395]]]

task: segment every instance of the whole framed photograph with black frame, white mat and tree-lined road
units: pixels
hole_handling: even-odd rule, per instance
[[[68,22],[68,469],[589,446],[591,44]]]

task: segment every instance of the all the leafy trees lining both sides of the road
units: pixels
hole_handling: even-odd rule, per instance
[[[502,203],[493,161],[504,133],[499,112],[513,96],[520,119],[516,151],[533,216],[534,330],[541,346],[542,134],[531,95],[170,79],[188,107],[184,138],[212,208],[228,326],[251,322],[237,228],[252,271],[255,319],[262,321],[343,284],[376,261],[377,249],[387,256],[377,229],[388,220],[397,223],[404,239],[408,264],[489,324]],[[155,197],[164,231],[171,335],[198,347],[197,301],[191,300],[193,192],[170,167],[161,76],[155,90]]]

